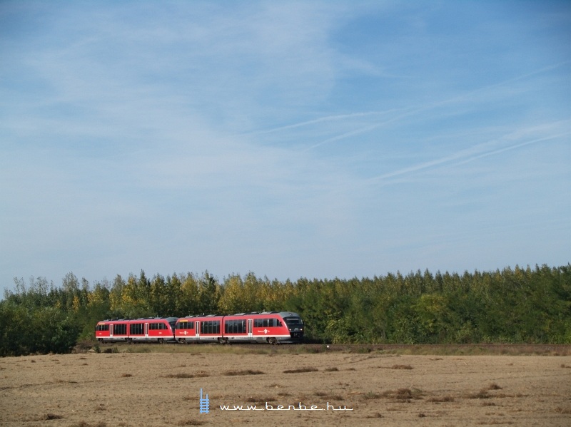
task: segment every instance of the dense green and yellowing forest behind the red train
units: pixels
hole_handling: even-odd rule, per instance
[[[0,356],[65,353],[103,319],[287,310],[310,342],[571,344],[571,264],[493,272],[400,272],[295,282],[208,272],[89,283],[14,279],[0,301]]]

